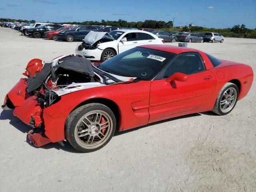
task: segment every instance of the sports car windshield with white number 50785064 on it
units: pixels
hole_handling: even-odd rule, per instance
[[[135,47],[98,65],[98,68],[119,76],[152,80],[176,54]]]

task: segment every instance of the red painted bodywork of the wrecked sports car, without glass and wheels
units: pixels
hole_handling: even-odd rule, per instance
[[[75,108],[94,99],[111,100],[118,106],[120,117],[117,130],[128,130],[158,120],[182,116],[195,112],[212,110],[221,88],[232,80],[239,81],[238,100],[246,96],[253,81],[250,66],[222,60],[213,68],[209,58],[201,51],[176,46],[146,45],[152,48],[180,54],[199,52],[204,60],[206,71],[188,75],[188,81],[163,80],[139,81],[112,84],[108,86],[84,89],[61,96],[61,99],[47,108],[40,108],[36,96],[26,93],[26,79],[22,78],[10,90],[6,100],[14,104],[13,114],[26,124],[34,126],[44,123],[44,138],[40,133],[30,133],[30,140],[36,146],[65,139],[66,118]]]

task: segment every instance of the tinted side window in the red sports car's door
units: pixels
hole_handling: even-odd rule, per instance
[[[180,72],[187,75],[205,70],[204,63],[199,53],[186,53],[178,56],[165,70],[163,78]]]

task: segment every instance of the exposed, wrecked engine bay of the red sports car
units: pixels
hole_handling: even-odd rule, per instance
[[[97,64],[100,63],[96,63],[96,66]],[[90,60],[75,55],[61,56],[52,62],[44,63],[42,69],[36,72],[35,65],[38,65],[38,62],[27,67],[24,73],[28,77],[26,92],[37,96],[42,108],[50,106],[57,102],[60,96],[70,92],[131,80],[110,75],[93,66]]]

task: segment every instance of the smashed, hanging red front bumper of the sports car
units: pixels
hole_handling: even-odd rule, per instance
[[[28,132],[28,138],[34,146],[61,142],[65,137],[60,130],[64,127],[66,118],[52,118],[49,112],[46,113],[47,108],[40,106],[37,96],[26,92],[26,84],[26,78],[21,78],[6,95],[2,108],[13,110],[14,116],[32,127]]]

